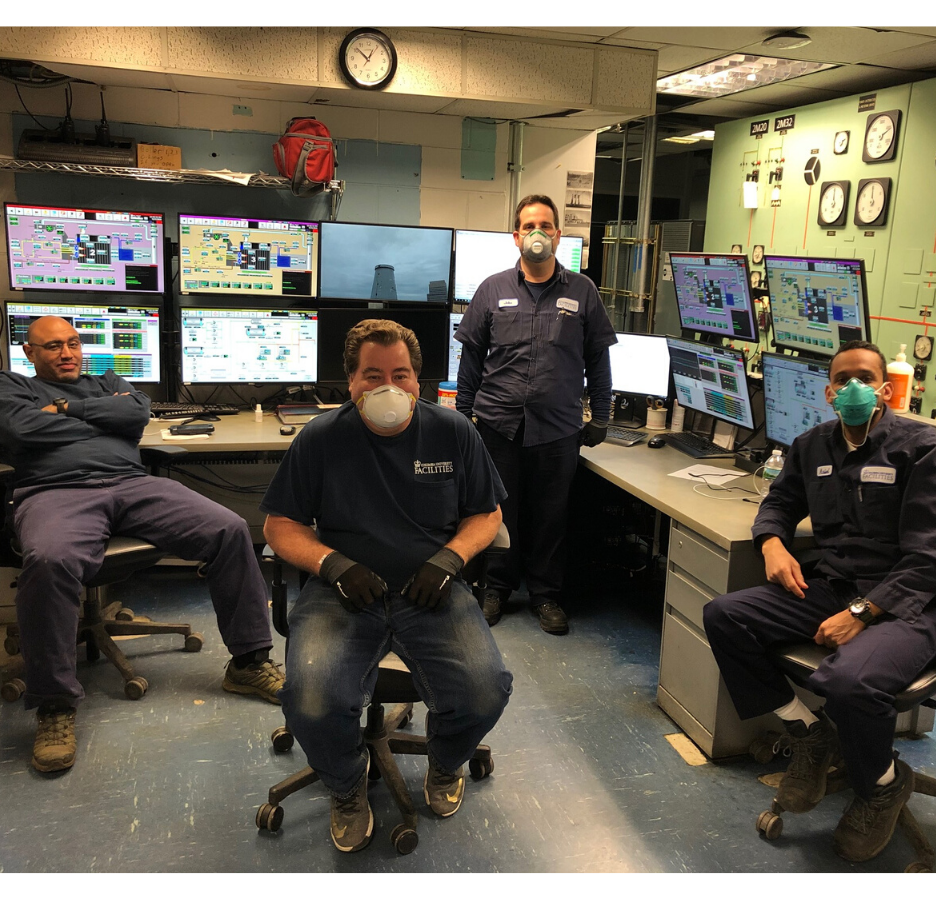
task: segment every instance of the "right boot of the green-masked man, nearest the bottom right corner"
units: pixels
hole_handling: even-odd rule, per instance
[[[891,842],[900,812],[913,794],[913,769],[897,760],[897,777],[875,788],[870,800],[855,797],[835,829],[835,852],[848,862],[868,862]]]

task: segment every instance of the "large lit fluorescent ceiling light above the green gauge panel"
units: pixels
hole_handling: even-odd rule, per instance
[[[734,53],[687,72],[661,78],[657,82],[657,92],[706,99],[726,97],[834,68],[832,63]]]

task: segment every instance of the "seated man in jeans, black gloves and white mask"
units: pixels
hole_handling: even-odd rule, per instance
[[[380,660],[397,653],[429,707],[425,796],[442,817],[513,682],[459,577],[497,535],[503,487],[468,420],[415,399],[421,369],[409,329],[353,328],[351,402],[305,427],[261,507],[273,549],[315,576],[289,617],[283,709],[345,853],[373,835],[360,722]]]

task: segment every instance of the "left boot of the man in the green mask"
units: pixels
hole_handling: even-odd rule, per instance
[[[792,760],[780,788],[777,803],[787,812],[812,812],[826,795],[829,769],[841,767],[842,754],[838,735],[825,713],[807,728],[804,722],[787,722],[788,744]]]

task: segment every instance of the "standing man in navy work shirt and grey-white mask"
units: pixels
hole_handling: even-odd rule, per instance
[[[549,197],[521,201],[514,240],[520,260],[479,288],[456,334],[463,344],[458,410],[478,430],[507,489],[510,553],[490,568],[489,625],[520,587],[542,629],[564,635],[568,502],[579,448],[597,447],[611,417],[611,357],[617,342],[594,283],[556,260],[559,210]],[[583,426],[585,382],[592,420]]]

